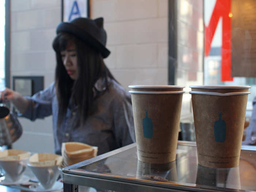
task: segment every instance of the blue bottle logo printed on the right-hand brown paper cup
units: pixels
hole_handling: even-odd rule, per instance
[[[214,138],[216,142],[225,142],[226,140],[226,122],[221,119],[219,112],[219,120],[214,123]]]

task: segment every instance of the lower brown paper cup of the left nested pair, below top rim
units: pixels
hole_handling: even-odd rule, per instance
[[[184,92],[129,91],[139,161],[167,163],[176,159]]]

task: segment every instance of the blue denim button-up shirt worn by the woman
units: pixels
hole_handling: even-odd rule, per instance
[[[34,121],[52,115],[55,153],[61,154],[61,143],[82,142],[98,147],[98,155],[135,142],[131,95],[115,80],[109,80],[109,90],[99,79],[94,86],[93,114],[85,125],[74,128],[78,115],[76,106],[68,106],[60,127],[57,126],[58,101],[54,83],[32,97],[21,116]]]

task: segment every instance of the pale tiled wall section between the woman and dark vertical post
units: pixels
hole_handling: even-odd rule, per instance
[[[168,0],[92,0],[91,17],[103,16],[116,79],[129,84],[167,84]]]

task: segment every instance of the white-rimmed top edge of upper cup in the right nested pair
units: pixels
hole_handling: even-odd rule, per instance
[[[210,85],[191,85],[191,91],[207,91],[217,93],[230,93],[230,92],[247,92],[251,86],[210,86]]]

